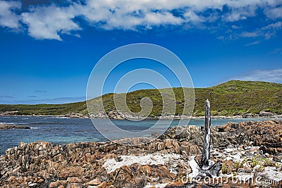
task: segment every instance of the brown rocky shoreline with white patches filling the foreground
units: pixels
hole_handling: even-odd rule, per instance
[[[20,143],[0,156],[0,187],[282,187],[281,120],[212,128],[211,159],[223,163],[221,182],[193,179],[202,127],[173,127],[140,144],[147,139]]]

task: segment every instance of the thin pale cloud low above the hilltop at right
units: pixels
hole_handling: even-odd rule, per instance
[[[231,80],[264,81],[282,83],[282,68],[274,70],[252,70],[249,73],[232,77]]]

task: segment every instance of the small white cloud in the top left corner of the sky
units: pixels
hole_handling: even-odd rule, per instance
[[[0,1],[0,25],[2,27],[9,27],[17,29],[19,27],[18,21],[20,16],[13,12],[14,9],[20,8],[18,1]]]

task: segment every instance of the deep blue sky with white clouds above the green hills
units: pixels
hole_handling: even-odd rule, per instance
[[[173,51],[195,87],[282,83],[281,31],[276,0],[0,1],[0,104],[83,101],[97,61],[137,42]]]

